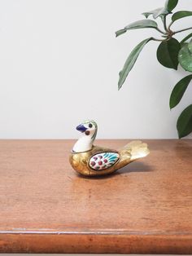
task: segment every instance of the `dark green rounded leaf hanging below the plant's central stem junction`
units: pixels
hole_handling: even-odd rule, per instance
[[[177,70],[177,56],[181,49],[180,43],[175,38],[170,38],[168,41],[163,41],[157,49],[157,60],[166,68]]]

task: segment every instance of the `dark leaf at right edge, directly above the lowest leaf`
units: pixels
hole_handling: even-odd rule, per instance
[[[189,75],[182,78],[179,82],[177,82],[170,96],[170,100],[169,100],[170,108],[174,108],[180,102],[191,79],[192,79],[192,75]]]

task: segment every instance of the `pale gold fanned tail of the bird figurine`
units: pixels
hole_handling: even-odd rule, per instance
[[[138,158],[146,157],[150,153],[149,149],[147,148],[147,144],[142,143],[141,140],[133,140],[120,150],[130,152],[130,161],[135,161]]]

